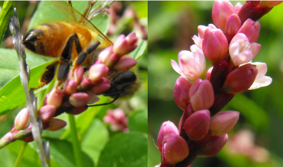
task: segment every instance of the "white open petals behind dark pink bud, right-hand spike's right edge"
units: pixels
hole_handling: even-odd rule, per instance
[[[256,65],[256,69],[258,70],[257,75],[255,77],[252,86],[249,90],[257,89],[259,87],[267,86],[272,83],[272,78],[265,76],[267,72],[267,66],[262,62],[253,62],[252,64]]]

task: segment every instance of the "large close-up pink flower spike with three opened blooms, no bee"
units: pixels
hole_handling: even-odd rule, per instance
[[[174,87],[174,99],[184,113],[179,129],[170,121],[161,125],[158,167],[189,167],[197,156],[216,155],[240,114],[220,110],[236,93],[272,82],[265,76],[266,64],[252,59],[261,49],[256,43],[260,30],[257,20],[277,4],[247,1],[233,6],[229,1],[216,1],[212,9],[215,25],[198,26],[190,51],[178,54],[179,64],[171,61],[181,75]],[[205,57],[213,65],[207,71]]]

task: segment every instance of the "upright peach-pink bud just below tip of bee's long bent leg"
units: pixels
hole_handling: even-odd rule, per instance
[[[59,108],[63,101],[63,92],[61,89],[52,89],[47,97],[47,105],[53,105]]]

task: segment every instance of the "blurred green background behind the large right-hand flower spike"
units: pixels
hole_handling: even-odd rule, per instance
[[[234,5],[237,2],[232,1]],[[172,69],[170,60],[177,61],[181,50],[189,50],[193,44],[191,37],[197,35],[198,25],[213,23],[213,3],[148,1],[148,167],[160,163],[160,153],[153,140],[157,143],[162,122],[170,120],[178,125],[183,113],[173,99],[174,84],[179,75]],[[233,153],[226,144],[215,157],[197,158],[191,167],[283,167],[283,4],[275,6],[259,22],[261,30],[257,43],[262,48],[253,62],[265,62],[268,66],[266,75],[273,82],[269,86],[236,95],[223,111],[240,111],[239,121],[228,133],[228,141],[232,141],[234,134],[241,130],[248,130],[245,132],[254,135],[254,140],[249,140],[251,148],[264,151],[254,149],[252,152],[258,154],[255,156]],[[209,67],[211,65],[207,61],[207,69]],[[266,160],[265,155],[269,155]],[[254,160],[254,157],[261,161]]]

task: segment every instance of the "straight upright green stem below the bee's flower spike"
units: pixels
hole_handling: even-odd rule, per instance
[[[68,114],[68,117],[69,117],[69,122],[70,122],[72,146],[73,146],[73,151],[75,154],[76,164],[77,164],[77,167],[83,167],[82,151],[81,151],[80,142],[77,138],[75,117],[72,114]]]

